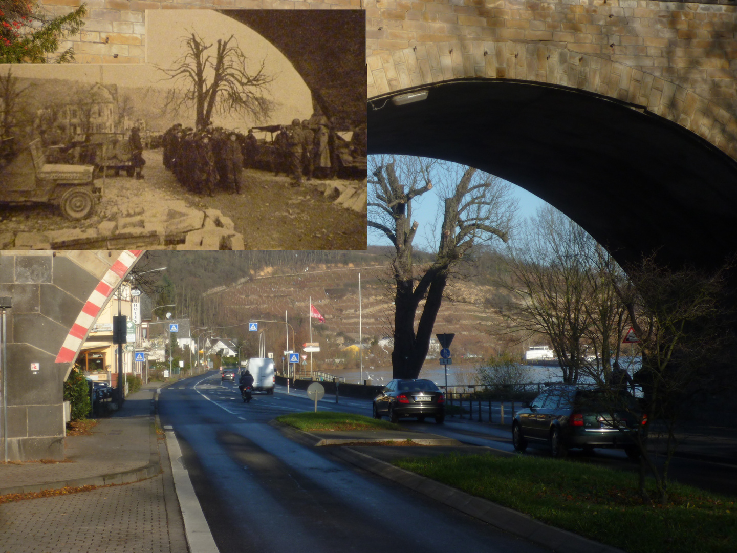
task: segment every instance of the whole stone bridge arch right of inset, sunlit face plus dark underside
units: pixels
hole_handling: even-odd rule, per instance
[[[500,175],[621,262],[659,248],[713,265],[736,249],[734,5],[371,0],[366,13],[371,153]],[[427,100],[391,101],[417,90]]]

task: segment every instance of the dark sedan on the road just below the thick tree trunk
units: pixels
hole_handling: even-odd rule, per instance
[[[432,380],[392,380],[374,397],[374,419],[384,415],[391,422],[399,417],[435,417],[442,424],[445,419],[445,396]]]

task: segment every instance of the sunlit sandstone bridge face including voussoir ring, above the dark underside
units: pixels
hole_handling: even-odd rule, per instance
[[[737,7],[652,0],[366,3],[367,97],[461,78],[592,92],[737,160]]]

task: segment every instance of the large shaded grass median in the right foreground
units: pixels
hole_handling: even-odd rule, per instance
[[[737,551],[736,498],[671,483],[643,504],[638,475],[528,456],[411,457],[394,465],[629,553]]]

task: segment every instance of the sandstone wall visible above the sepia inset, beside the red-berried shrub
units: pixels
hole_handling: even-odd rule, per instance
[[[86,24],[73,41],[60,45],[74,47],[77,63],[143,63],[145,58],[145,10],[333,10],[360,9],[362,0],[39,0],[52,15],[63,15],[87,4]]]

